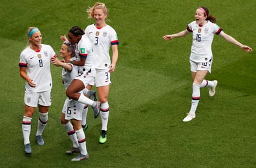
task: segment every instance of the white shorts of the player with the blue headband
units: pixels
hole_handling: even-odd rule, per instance
[[[51,91],[45,92],[29,92],[25,91],[24,95],[25,105],[30,107],[37,107],[38,104],[43,106],[52,105]]]

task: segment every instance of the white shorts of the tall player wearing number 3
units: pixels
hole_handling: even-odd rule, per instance
[[[107,86],[111,84],[109,69],[96,69],[96,76],[94,81],[90,82],[91,86]]]

